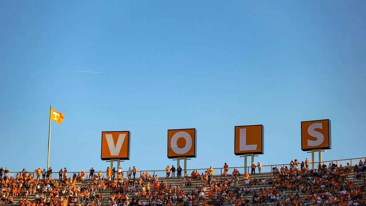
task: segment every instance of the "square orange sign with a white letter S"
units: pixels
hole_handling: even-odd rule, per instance
[[[301,122],[301,150],[331,149],[330,120]]]

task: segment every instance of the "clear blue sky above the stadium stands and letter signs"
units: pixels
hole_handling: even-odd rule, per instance
[[[332,121],[323,160],[365,153],[366,1],[0,1],[0,166],[163,170],[167,129],[196,128],[188,168],[243,166],[234,126],[263,124],[263,165],[305,160],[300,122]],[[80,73],[72,70],[100,71]]]

